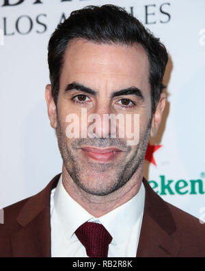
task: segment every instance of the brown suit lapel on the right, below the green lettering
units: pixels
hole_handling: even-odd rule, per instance
[[[146,201],[137,257],[176,257],[180,244],[172,237],[176,225],[167,204],[143,179]]]

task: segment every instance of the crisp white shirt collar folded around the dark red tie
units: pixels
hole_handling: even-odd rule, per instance
[[[60,176],[54,194],[54,209],[66,237],[71,238],[77,228],[87,221],[100,222],[109,231],[113,241],[120,245],[141,219],[144,200],[145,188],[141,183],[139,192],[131,200],[101,217],[94,217],[70,197]]]

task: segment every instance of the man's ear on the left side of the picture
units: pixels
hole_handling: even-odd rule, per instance
[[[55,129],[57,126],[57,121],[56,121],[56,119],[57,119],[57,111],[56,110],[57,109],[55,106],[55,102],[53,100],[51,84],[46,85],[45,98],[46,98],[49,119],[51,121],[51,127],[53,127]]]

